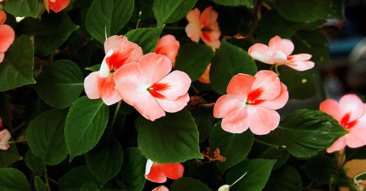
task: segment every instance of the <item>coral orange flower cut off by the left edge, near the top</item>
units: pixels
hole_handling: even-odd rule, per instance
[[[15,32],[9,25],[4,24],[6,20],[6,13],[0,10],[0,62],[3,62],[5,51],[14,42]]]

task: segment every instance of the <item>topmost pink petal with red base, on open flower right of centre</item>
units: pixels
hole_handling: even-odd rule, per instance
[[[260,70],[255,74],[251,91],[260,91],[255,100],[275,99],[280,95],[281,84],[275,72]]]

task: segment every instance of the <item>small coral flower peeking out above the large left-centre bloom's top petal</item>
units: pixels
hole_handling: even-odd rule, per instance
[[[167,56],[174,67],[175,57],[177,56],[178,49],[179,41],[177,41],[173,35],[168,34],[158,40],[155,53]]]

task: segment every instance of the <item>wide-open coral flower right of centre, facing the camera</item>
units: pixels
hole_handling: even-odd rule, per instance
[[[276,73],[261,70],[250,76],[234,76],[213,108],[213,116],[223,118],[221,127],[230,133],[242,133],[250,128],[257,135],[268,134],[280,123],[275,111],[288,100],[287,87]]]

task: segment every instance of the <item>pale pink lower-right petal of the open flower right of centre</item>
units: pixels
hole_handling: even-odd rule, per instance
[[[249,129],[256,135],[265,135],[276,129],[280,115],[275,111],[258,105],[248,107]]]

